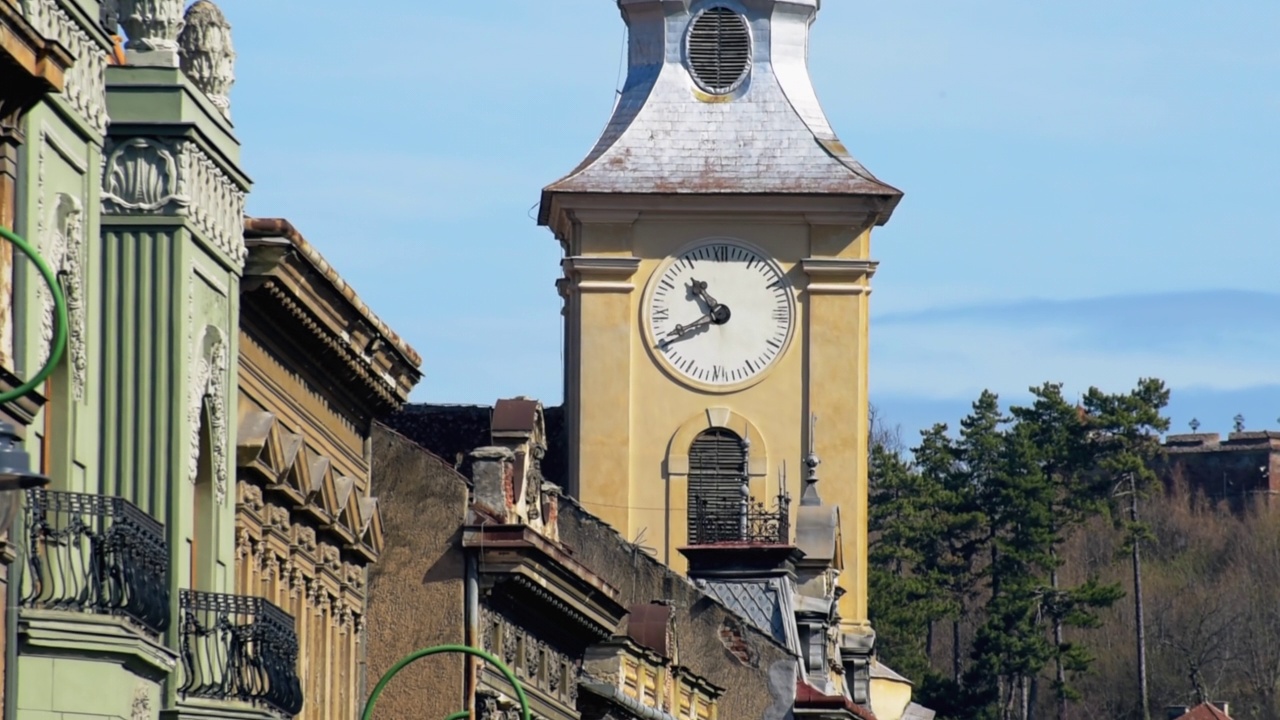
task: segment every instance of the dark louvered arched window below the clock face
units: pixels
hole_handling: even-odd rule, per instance
[[[733,430],[712,428],[689,447],[689,542],[736,536],[742,511],[746,454]]]

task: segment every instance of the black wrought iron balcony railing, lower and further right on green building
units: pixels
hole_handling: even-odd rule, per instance
[[[302,710],[293,618],[260,597],[179,591],[183,697]]]

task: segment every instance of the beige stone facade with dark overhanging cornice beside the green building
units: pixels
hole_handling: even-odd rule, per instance
[[[370,434],[407,398],[420,359],[292,225],[248,220],[246,236],[236,592],[296,619],[300,717],[351,720],[365,693],[367,571],[384,547]]]

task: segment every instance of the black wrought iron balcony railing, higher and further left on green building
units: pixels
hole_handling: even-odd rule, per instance
[[[123,497],[27,491],[22,606],[128,618],[169,626],[164,525]]]

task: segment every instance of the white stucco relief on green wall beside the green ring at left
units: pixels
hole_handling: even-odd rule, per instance
[[[84,398],[88,379],[88,359],[84,337],[84,213],[78,197],[58,192],[49,199],[47,167],[51,136],[41,131],[36,159],[36,237],[41,255],[56,275],[67,300],[67,355],[72,395]],[[49,199],[49,200],[46,200]],[[32,268],[32,273],[36,273]],[[33,278],[40,307],[40,342],[36,346],[36,366],[49,360],[54,342],[54,296],[44,278]]]

